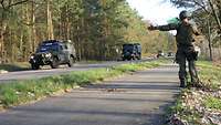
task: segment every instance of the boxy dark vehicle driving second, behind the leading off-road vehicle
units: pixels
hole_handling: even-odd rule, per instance
[[[125,60],[141,60],[141,45],[139,43],[123,44],[123,61]]]

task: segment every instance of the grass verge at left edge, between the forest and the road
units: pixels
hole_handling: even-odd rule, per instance
[[[23,71],[29,70],[30,64],[28,62],[21,62],[21,63],[11,63],[11,64],[0,64],[0,70],[2,71]]]

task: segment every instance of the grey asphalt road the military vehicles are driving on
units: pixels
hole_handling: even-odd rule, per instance
[[[149,61],[150,59],[143,60]],[[140,61],[133,61],[133,62],[140,62]],[[109,62],[102,62],[102,63],[94,63],[94,64],[81,64],[76,63],[73,67],[67,67],[67,65],[61,65],[59,69],[51,69],[50,66],[44,66],[43,70],[30,70],[30,71],[19,71],[19,72],[9,72],[4,74],[0,74],[0,83],[14,81],[14,80],[33,80],[33,79],[41,79],[51,75],[60,75],[70,73],[73,71],[86,71],[91,69],[101,69],[101,67],[108,67],[113,65],[130,63],[130,61],[109,61]]]

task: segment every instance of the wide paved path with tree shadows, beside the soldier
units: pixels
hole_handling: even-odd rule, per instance
[[[0,113],[0,125],[164,125],[177,72],[165,65],[13,107]]]

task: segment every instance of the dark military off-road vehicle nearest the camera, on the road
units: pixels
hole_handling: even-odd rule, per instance
[[[33,70],[38,70],[43,65],[51,65],[52,69],[60,64],[72,66],[75,61],[76,53],[71,41],[48,40],[39,45],[29,62]]]

